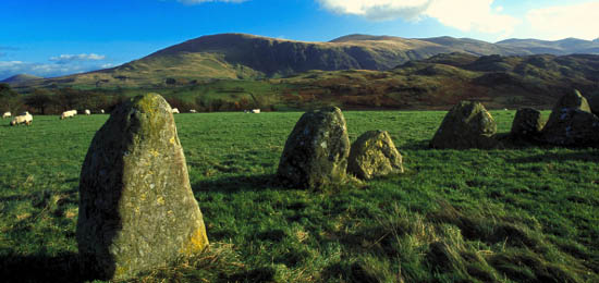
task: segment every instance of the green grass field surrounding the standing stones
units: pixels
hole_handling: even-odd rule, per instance
[[[406,173],[297,190],[273,174],[301,114],[176,115],[212,246],[134,281],[599,282],[597,149],[432,150],[444,112],[345,112],[351,140],[389,131]],[[87,280],[78,174],[107,118],[1,121],[1,282]]]

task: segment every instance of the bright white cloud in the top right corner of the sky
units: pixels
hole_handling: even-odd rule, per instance
[[[599,37],[599,1],[534,9],[526,20],[533,32],[546,39],[595,39]]]

